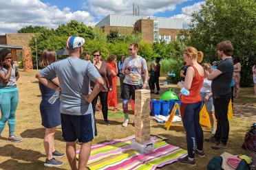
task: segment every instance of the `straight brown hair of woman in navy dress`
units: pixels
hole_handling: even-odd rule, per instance
[[[41,53],[41,58],[39,60],[39,66],[41,68],[52,64],[52,62],[56,62],[56,52],[52,49],[44,49]]]

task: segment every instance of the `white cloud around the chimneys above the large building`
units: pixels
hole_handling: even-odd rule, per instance
[[[165,12],[167,10],[174,10],[175,5],[189,0],[138,0],[136,3],[140,4],[140,14],[145,16],[153,16],[157,12]],[[89,11],[96,17],[101,18],[108,14],[132,14],[133,12],[132,0],[88,0],[85,2]]]

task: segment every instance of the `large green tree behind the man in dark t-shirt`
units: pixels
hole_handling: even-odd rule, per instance
[[[206,0],[192,14],[190,44],[204,51],[205,60],[216,60],[215,47],[231,40],[235,56],[242,60],[241,85],[250,86],[252,60],[256,47],[255,0]]]

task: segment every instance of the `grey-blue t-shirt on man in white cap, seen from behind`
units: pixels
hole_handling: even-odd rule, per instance
[[[56,74],[61,87],[61,113],[72,115],[92,114],[92,104],[85,101],[81,92],[89,94],[89,82],[101,77],[95,66],[80,58],[68,57],[54,62],[40,71],[45,78]]]

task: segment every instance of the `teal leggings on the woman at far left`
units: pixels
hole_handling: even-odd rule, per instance
[[[9,134],[14,135],[15,131],[15,112],[19,102],[19,93],[17,87],[5,87],[0,88],[0,135],[3,132],[3,128],[8,121]]]

